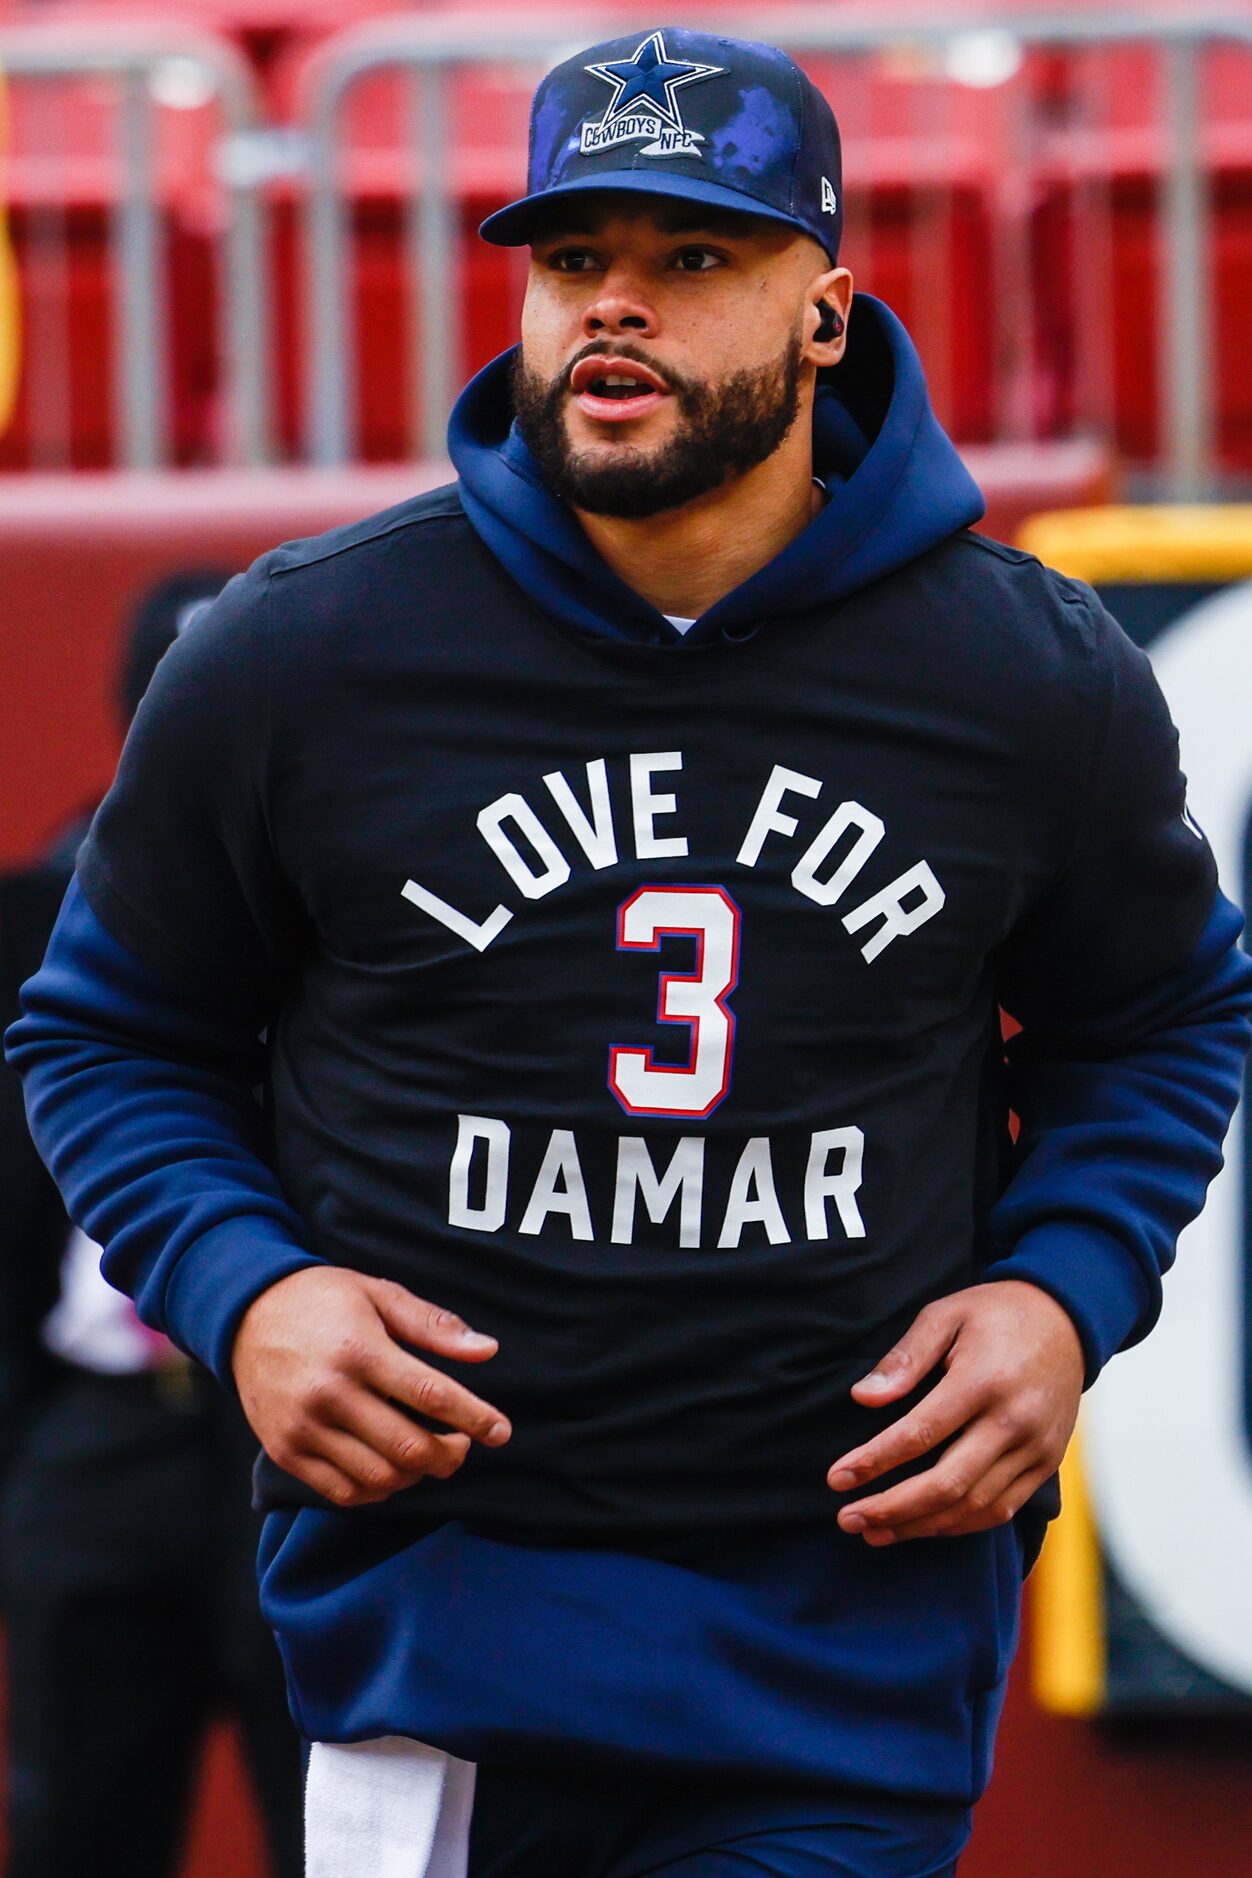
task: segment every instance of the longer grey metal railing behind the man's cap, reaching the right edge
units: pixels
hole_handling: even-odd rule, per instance
[[[706,24],[704,19],[700,24]],[[447,312],[456,284],[456,214],[449,180],[445,94],[456,68],[520,62],[533,68],[569,56],[614,34],[633,32],[638,13],[505,13],[497,17],[392,17],[347,28],[328,41],[306,69],[302,120],[308,128],[306,199],[306,327],[308,453],[317,464],[345,462],[355,432],[355,346],[349,319],[349,208],[340,188],[342,118],[347,94],[366,77],[402,71],[413,81],[415,146],[420,152],[420,190],[411,203],[407,269],[419,310],[411,385],[417,445],[443,453],[443,430],[458,370]],[[1235,15],[1117,13],[1031,19],[1004,15],[963,23],[931,23],[920,15],[895,19],[832,17],[815,8],[770,8],[717,15],[721,30],[770,38],[792,53],[856,58],[895,49],[950,53],[976,34],[1002,34],[1021,47],[1087,51],[1147,47],[1166,60],[1168,160],[1160,201],[1160,246],[1168,267],[1158,269],[1156,329],[1162,359],[1162,436],[1169,492],[1205,492],[1214,449],[1214,359],[1211,295],[1211,205],[1201,150],[1199,68],[1209,47],[1252,51],[1252,19]],[[856,175],[845,178],[856,190]],[[1021,267],[1021,257],[1017,261]],[[1004,297],[1002,297],[1004,299]],[[1029,306],[1006,297],[1000,321],[1029,319]],[[1008,336],[1008,349],[1014,346]],[[1000,361],[999,428],[1021,438],[1029,430],[1012,394],[1012,366]],[[1008,385],[1008,389],[1006,389]]]

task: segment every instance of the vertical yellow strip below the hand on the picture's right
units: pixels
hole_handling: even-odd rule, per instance
[[[1094,1715],[1104,1703],[1104,1570],[1077,1435],[1061,1463],[1061,1501],[1031,1574],[1031,1683],[1053,1715]]]

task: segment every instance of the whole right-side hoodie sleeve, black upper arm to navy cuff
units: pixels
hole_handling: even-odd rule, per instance
[[[1000,1001],[1021,1132],[984,1279],[1066,1307],[1087,1382],[1156,1322],[1162,1273],[1222,1166],[1252,1039],[1243,920],[1186,809],[1149,659],[1094,614],[1106,723],[1068,866],[1010,935]]]

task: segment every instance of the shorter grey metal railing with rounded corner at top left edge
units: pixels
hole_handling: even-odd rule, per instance
[[[223,133],[246,139],[257,124],[252,71],[240,53],[212,34],[171,23],[75,23],[0,28],[0,69],[9,81],[103,79],[116,90],[120,186],[113,208],[115,424],[118,458],[130,470],[169,462],[169,327],[165,242],[156,178],[154,79],[176,62],[203,75]],[[229,165],[227,165],[229,169]],[[223,456],[263,464],[270,456],[268,295],[257,182],[221,178],[220,359],[223,370]],[[34,336],[38,344],[38,334]]]

